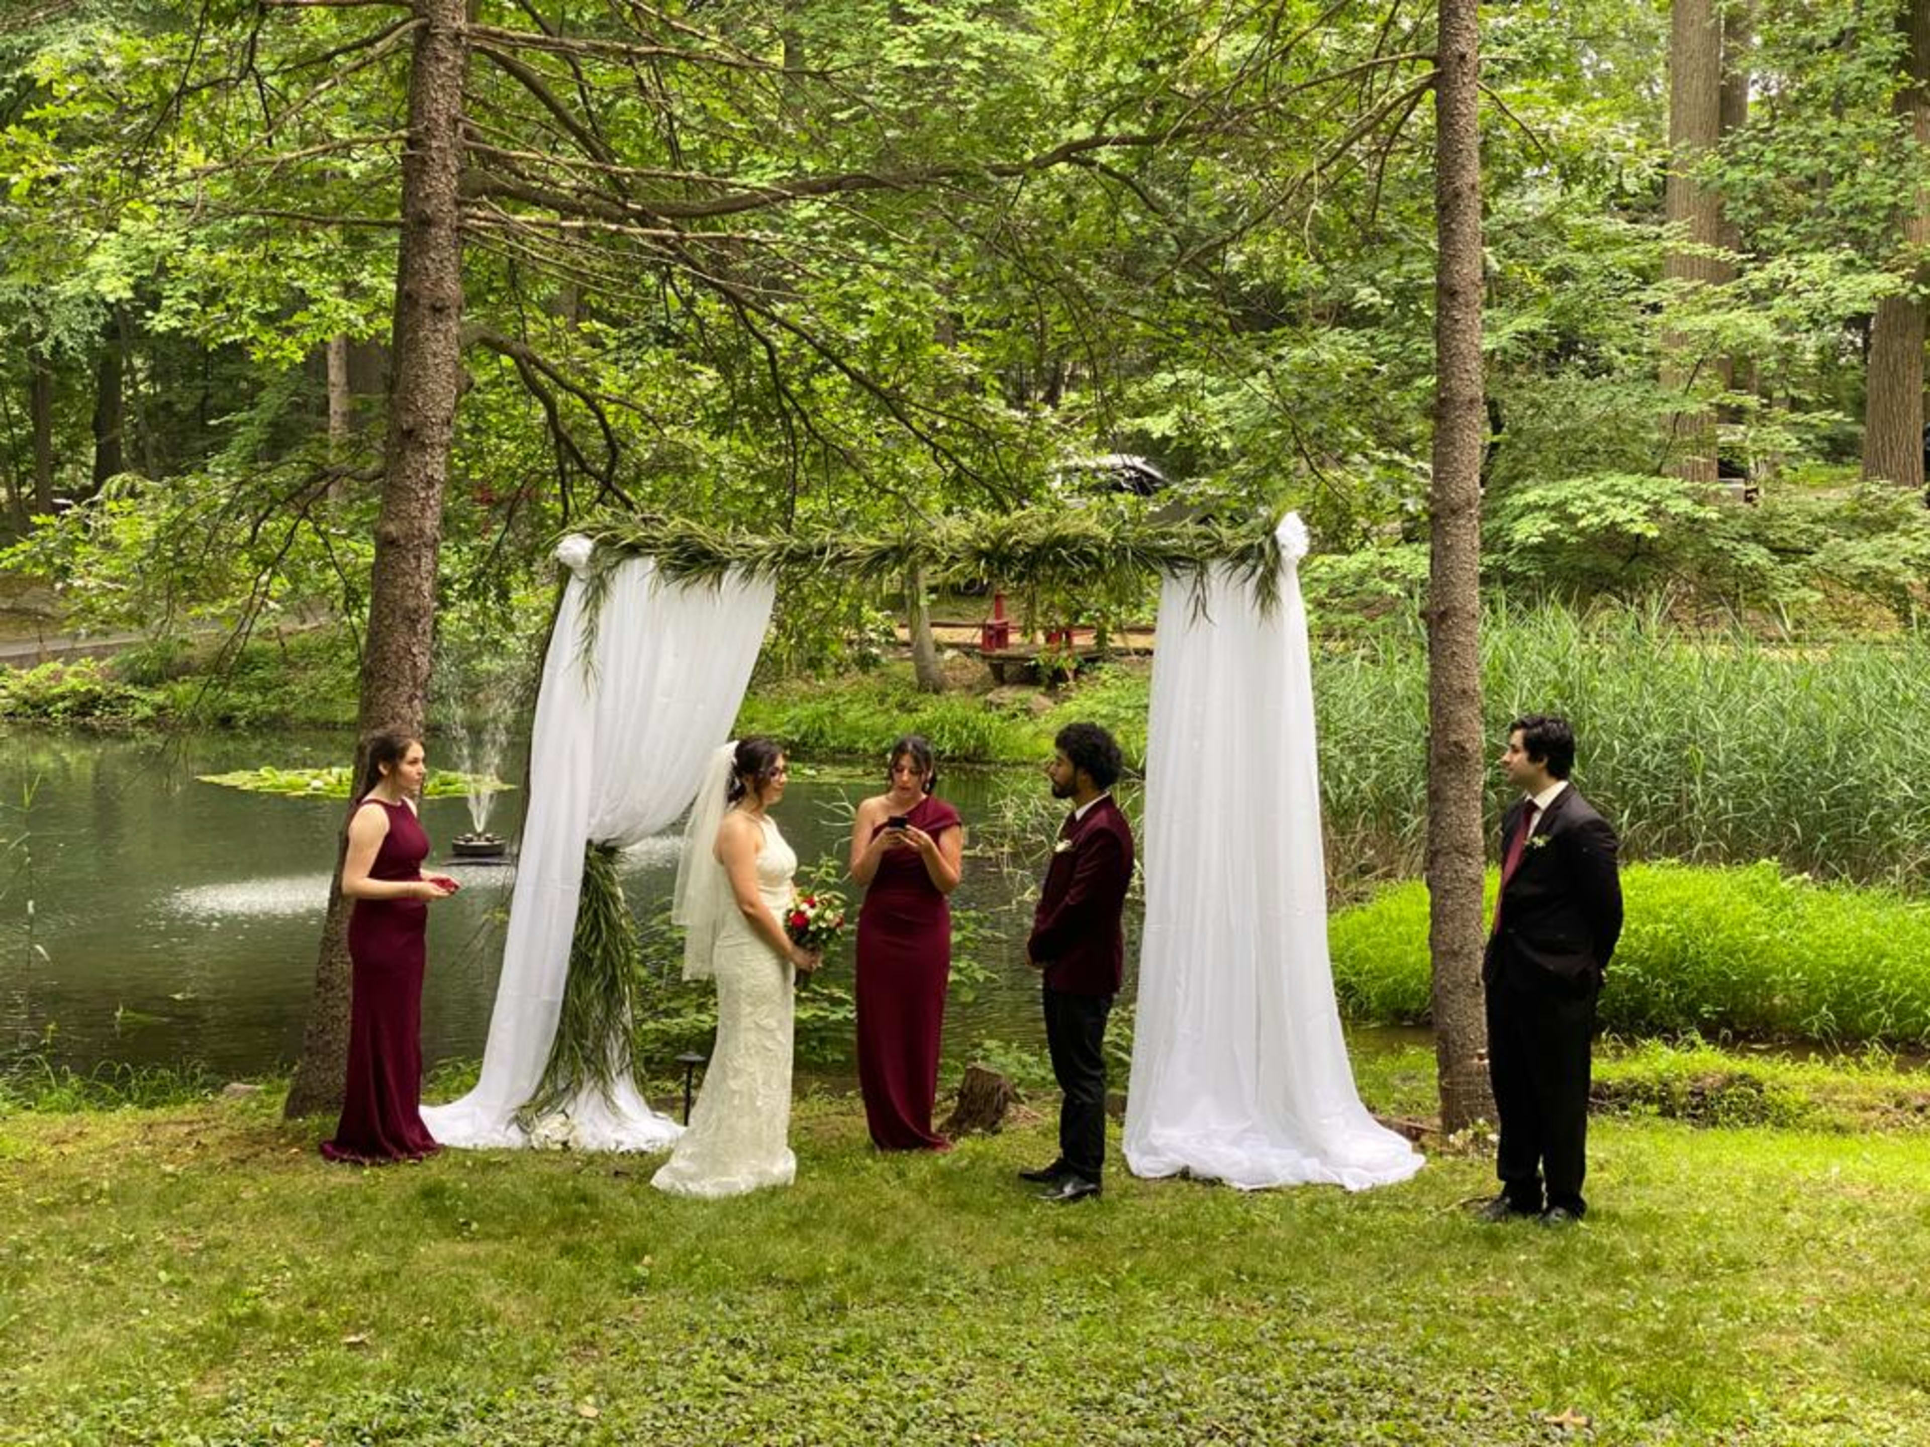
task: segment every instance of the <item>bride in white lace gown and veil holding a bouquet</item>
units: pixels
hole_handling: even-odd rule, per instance
[[[818,955],[782,924],[797,855],[770,806],[786,776],[770,739],[724,745],[683,832],[672,918],[687,930],[683,976],[718,982],[718,1038],[691,1125],[650,1177],[677,1196],[737,1196],[797,1175],[787,1142],[793,990]]]

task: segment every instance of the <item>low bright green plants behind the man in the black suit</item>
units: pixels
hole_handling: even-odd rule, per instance
[[[1492,907],[1494,872],[1486,893]],[[1625,1036],[1930,1044],[1930,903],[1822,886],[1776,864],[1623,870],[1627,922],[1602,992]],[[1341,1011],[1428,1019],[1428,897],[1419,882],[1332,918]]]

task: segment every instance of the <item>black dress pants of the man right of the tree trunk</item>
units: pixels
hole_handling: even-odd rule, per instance
[[[1563,1206],[1581,1215],[1600,986],[1569,994],[1561,986],[1523,986],[1507,970],[1488,986],[1488,1078],[1502,1117],[1496,1175],[1515,1210]]]

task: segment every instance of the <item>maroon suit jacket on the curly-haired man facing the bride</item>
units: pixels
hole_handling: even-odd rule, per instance
[[[1116,996],[1125,976],[1125,886],[1133,880],[1133,830],[1100,797],[1083,820],[1065,820],[1033,915],[1027,953],[1046,967],[1046,988],[1067,996]]]

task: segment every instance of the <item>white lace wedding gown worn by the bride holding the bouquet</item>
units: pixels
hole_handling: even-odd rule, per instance
[[[784,918],[797,855],[764,818],[757,891]],[[735,903],[724,901],[712,967],[718,982],[718,1038],[710,1050],[691,1127],[650,1185],[677,1196],[739,1196],[787,1187],[797,1175],[791,1129],[791,963],[751,934]]]

